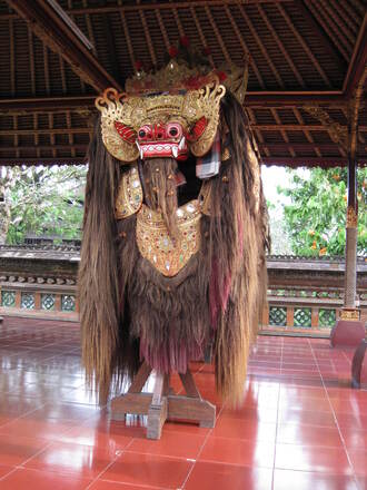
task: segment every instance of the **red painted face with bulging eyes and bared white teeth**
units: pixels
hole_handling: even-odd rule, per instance
[[[189,149],[180,122],[143,125],[138,130],[140,158],[172,157],[185,160]]]

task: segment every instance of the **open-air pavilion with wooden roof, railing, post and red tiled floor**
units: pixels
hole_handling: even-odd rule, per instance
[[[348,168],[345,258],[270,255],[244,402],[217,396],[208,353],[190,367],[214,427],[168,420],[152,440],[147,415],[86,388],[78,245],[0,245],[0,490],[367,489],[366,2],[0,0],[0,165],[88,164],[96,97],[180,39],[215,68],[248,65],[261,165]]]

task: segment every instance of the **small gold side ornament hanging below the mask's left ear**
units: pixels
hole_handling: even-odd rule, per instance
[[[136,214],[142,205],[142,187],[137,165],[125,171],[115,204],[116,219],[123,219]]]

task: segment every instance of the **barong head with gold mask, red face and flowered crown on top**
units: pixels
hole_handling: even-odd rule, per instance
[[[156,72],[139,66],[125,92],[108,88],[96,99],[103,144],[126,164],[139,157],[186,159],[189,153],[201,157],[214,144],[226,87],[244,91],[245,78],[235,66],[219,71],[176,57]]]

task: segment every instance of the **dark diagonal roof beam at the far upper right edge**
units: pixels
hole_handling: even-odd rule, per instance
[[[364,22],[360,27],[358,39],[355,46],[353,58],[346,75],[343,90],[347,99],[353,97],[360,78],[364,75],[367,65],[367,13],[365,13]]]

